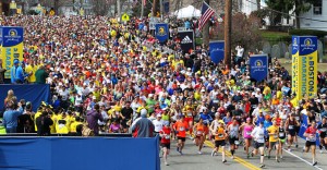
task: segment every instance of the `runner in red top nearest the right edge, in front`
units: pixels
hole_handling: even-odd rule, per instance
[[[311,122],[311,126],[308,126],[303,136],[305,136],[306,142],[305,142],[305,147],[303,149],[303,151],[307,153],[308,149],[311,149],[311,154],[312,154],[312,166],[316,166],[317,161],[316,161],[316,132],[317,132],[317,127],[316,127],[316,121],[312,121]]]

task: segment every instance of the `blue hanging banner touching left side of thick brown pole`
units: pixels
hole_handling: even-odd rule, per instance
[[[209,52],[210,52],[211,61],[214,63],[217,64],[220,61],[222,61],[225,57],[225,41],[223,40],[210,41]]]

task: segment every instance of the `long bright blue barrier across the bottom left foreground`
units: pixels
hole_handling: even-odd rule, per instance
[[[158,137],[0,137],[1,170],[160,170]]]

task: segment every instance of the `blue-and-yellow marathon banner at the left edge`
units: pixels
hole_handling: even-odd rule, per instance
[[[2,66],[7,70],[5,78],[10,78],[10,70],[14,59],[23,61],[23,27],[3,26],[2,27]]]

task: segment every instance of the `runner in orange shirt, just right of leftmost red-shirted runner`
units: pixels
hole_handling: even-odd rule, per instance
[[[189,131],[189,122],[185,121],[184,114],[179,114],[180,119],[174,123],[174,131],[178,137],[177,151],[183,155],[182,150],[186,141],[186,131]]]

